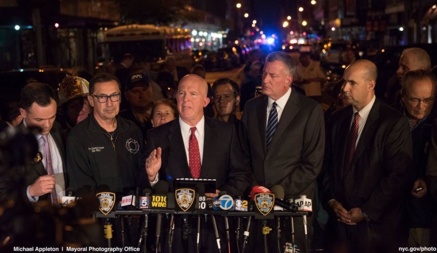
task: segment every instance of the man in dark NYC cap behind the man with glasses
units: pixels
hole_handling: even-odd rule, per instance
[[[150,78],[143,73],[134,73],[127,77],[124,96],[129,108],[120,112],[120,117],[134,121],[143,136],[152,128],[150,113],[153,106]]]

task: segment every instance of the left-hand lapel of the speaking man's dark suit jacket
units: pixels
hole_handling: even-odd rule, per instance
[[[180,165],[181,171],[185,177],[191,177],[191,172],[186,160],[184,140],[182,139],[181,126],[179,120],[175,119],[170,126],[170,134],[168,135],[168,143],[171,153],[173,154],[174,164]]]

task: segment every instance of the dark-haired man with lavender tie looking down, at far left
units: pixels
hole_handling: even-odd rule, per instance
[[[54,91],[47,84],[31,83],[22,89],[20,99],[21,126],[40,130],[35,135],[39,152],[32,168],[26,168],[26,195],[30,202],[49,200],[58,204],[65,195],[67,175],[64,138],[55,122]]]

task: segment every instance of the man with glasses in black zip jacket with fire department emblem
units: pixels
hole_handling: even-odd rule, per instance
[[[137,186],[143,136],[136,124],[118,116],[120,84],[117,77],[100,73],[89,82],[92,114],[68,135],[67,170],[70,185],[107,185],[122,193]]]

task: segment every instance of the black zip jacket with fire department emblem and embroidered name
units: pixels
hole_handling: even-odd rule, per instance
[[[117,116],[113,137],[89,115],[68,135],[67,171],[70,186],[78,189],[107,185],[126,193],[138,185],[143,136],[134,122]]]

